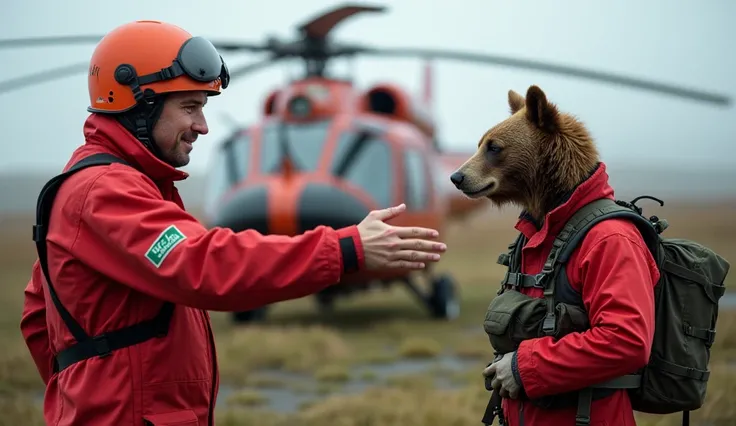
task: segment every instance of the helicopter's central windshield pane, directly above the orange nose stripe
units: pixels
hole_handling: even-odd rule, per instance
[[[327,141],[329,121],[269,123],[264,126],[261,139],[261,172],[272,172],[281,160],[280,126],[283,126],[294,165],[301,171],[315,170]]]

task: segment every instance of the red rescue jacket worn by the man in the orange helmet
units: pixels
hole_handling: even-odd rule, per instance
[[[159,161],[111,118],[91,115],[84,135],[65,170],[95,153],[130,166],[90,167],[61,186],[47,236],[61,303],[90,336],[151,319],[164,301],[175,307],[166,337],[57,372],[55,354],[75,341],[36,261],[20,328],[46,384],[46,422],[211,426],[219,376],[206,311],[254,309],[338,283],[342,238],[352,239],[364,265],[357,228],[319,227],[293,238],[207,230],[174,186],[186,173]],[[146,252],[171,225],[185,238],[157,267]]]

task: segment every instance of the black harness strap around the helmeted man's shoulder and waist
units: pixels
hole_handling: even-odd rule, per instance
[[[112,163],[128,164],[124,160],[111,154],[93,154],[83,158],[79,162],[71,166],[66,172],[63,172],[50,179],[39,194],[36,203],[36,223],[33,225],[33,241],[36,243],[36,251],[38,252],[38,260],[41,265],[46,283],[49,289],[49,295],[54,302],[61,319],[67,326],[69,331],[77,341],[59,352],[55,357],[55,372],[64,370],[66,367],[95,356],[105,357],[116,349],[131,346],[153,337],[165,336],[168,332],[169,321],[173,314],[174,305],[165,302],[158,314],[151,320],[143,321],[129,327],[115,330],[109,333],[103,333],[99,336],[90,337],[81,325],[72,317],[69,311],[59,300],[59,296],[54,290],[51,283],[51,277],[48,271],[48,251],[46,247],[46,237],[48,234],[48,226],[51,219],[51,209],[61,185],[74,173],[92,166],[104,166]]]

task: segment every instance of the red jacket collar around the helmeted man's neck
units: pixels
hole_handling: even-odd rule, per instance
[[[84,122],[86,145],[97,145],[128,162],[156,182],[184,180],[189,175],[158,159],[114,118],[91,114]]]

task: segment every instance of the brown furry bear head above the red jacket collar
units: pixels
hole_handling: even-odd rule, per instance
[[[511,116],[481,137],[457,170],[463,179],[456,186],[498,207],[519,205],[541,221],[593,170],[598,150],[583,123],[560,112],[539,87],[530,86],[526,98],[509,90],[508,103]]]

